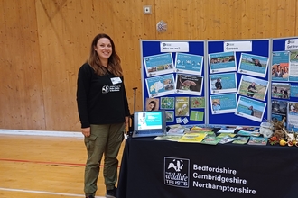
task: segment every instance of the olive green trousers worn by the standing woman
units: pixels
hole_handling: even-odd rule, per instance
[[[124,139],[125,124],[100,124],[90,126],[90,136],[85,137],[88,158],[85,167],[84,192],[95,196],[98,190],[100,162],[104,158],[103,175],[107,190],[112,190],[117,181],[117,155]]]

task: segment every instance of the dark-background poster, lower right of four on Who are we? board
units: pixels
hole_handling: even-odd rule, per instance
[[[180,94],[201,95],[202,76],[177,74],[176,92]]]

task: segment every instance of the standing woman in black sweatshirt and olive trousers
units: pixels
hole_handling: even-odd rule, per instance
[[[116,197],[117,155],[130,116],[123,71],[113,40],[98,34],[88,61],[79,68],[77,103],[88,158],[84,191],[94,198],[103,155],[106,197]]]

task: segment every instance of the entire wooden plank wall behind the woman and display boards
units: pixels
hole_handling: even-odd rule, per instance
[[[153,14],[144,15],[143,6]],[[116,42],[130,109],[142,109],[140,40],[297,36],[296,0],[0,0],[0,128],[79,130],[76,81],[91,40]],[[163,20],[168,31],[158,33]]]

